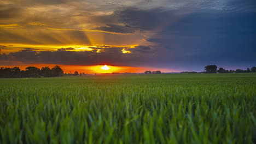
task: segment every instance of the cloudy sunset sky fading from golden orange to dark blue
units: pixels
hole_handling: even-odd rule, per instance
[[[246,69],[255,38],[255,0],[0,0],[4,67]]]

